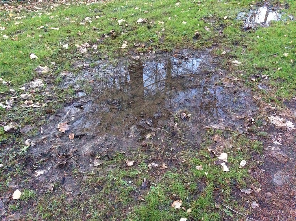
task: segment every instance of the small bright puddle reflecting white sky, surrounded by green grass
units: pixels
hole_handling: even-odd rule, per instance
[[[293,20],[292,15],[280,12],[279,9],[274,9],[269,5],[264,5],[250,13],[240,12],[238,19],[244,20],[244,28],[254,28],[258,25],[268,26],[271,21],[286,20],[287,18]]]

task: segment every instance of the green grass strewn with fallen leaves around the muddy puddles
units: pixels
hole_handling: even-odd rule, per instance
[[[281,9],[281,12],[296,16],[295,1],[272,2],[278,5],[289,4],[289,8]],[[15,90],[18,96],[24,93],[19,88],[34,78],[42,78],[46,84],[44,88],[33,92],[35,99],[41,104],[45,100],[49,101],[44,107],[33,109],[20,107],[23,101],[15,99],[9,111],[0,108],[0,123],[17,122],[18,128],[25,125],[39,128],[46,123],[46,115],[54,113],[75,97],[73,87],[59,87],[63,81],[59,74],[65,70],[74,75],[79,74],[82,67],[74,68],[78,62],[88,61],[90,66],[94,66],[97,60],[105,57],[112,60],[182,48],[204,49],[214,46],[213,53],[220,56],[221,65],[229,74],[245,80],[254,94],[262,96],[267,103],[281,104],[282,99],[296,95],[295,22],[287,19],[272,22],[269,27],[246,31],[242,28],[242,21],[237,20],[237,14],[248,12],[250,4],[256,4],[251,0],[176,3],[178,1],[118,0],[89,5],[64,4],[54,10],[42,9],[40,14],[20,9],[19,14],[12,13],[11,16],[10,12],[1,11],[0,27],[6,29],[0,31],[0,76],[10,83],[0,84],[0,92],[7,93],[1,94],[0,102],[4,104],[6,99],[12,97],[9,89]],[[22,18],[14,20],[15,17]],[[86,17],[90,17],[91,22]],[[7,21],[7,18],[10,20]],[[147,22],[137,24],[139,18],[146,18]],[[120,19],[124,21],[118,24]],[[205,30],[205,26],[210,31]],[[197,31],[200,37],[194,38]],[[2,38],[3,35],[9,37]],[[76,46],[84,42],[90,44],[86,54],[78,51]],[[121,49],[124,43],[127,47]],[[68,48],[63,47],[65,44],[69,44]],[[145,47],[135,44],[144,44]],[[97,49],[92,48],[94,45]],[[226,55],[221,55],[223,51],[227,51]],[[30,53],[37,55],[38,59],[30,59]],[[236,67],[231,63],[233,60],[242,64]],[[48,66],[50,72],[36,72],[38,65]],[[267,79],[263,79],[262,75],[266,75]],[[92,92],[91,83],[79,83],[85,93]],[[258,89],[258,83],[268,85],[270,90]],[[45,90],[48,93],[43,93]],[[175,118],[179,120],[177,116]],[[257,120],[250,128],[250,133],[260,139],[266,138],[268,134],[262,131],[262,127],[262,122]],[[23,179],[25,182],[29,179],[28,168],[22,164],[28,160],[28,155],[25,151],[19,153],[25,139],[36,133],[37,129],[23,136],[18,130],[6,133],[3,126],[0,127],[0,163],[4,164],[0,168],[0,193],[7,192],[9,182],[14,179]],[[221,166],[215,164],[217,159],[207,150],[214,145],[215,135],[232,144],[231,148],[224,150],[228,154],[230,172],[223,172]],[[260,156],[263,151],[261,141],[253,141],[247,136],[227,130],[207,130],[203,141],[199,150],[180,143],[182,151],[175,155],[157,152],[161,146],[153,146],[152,154],[159,154],[159,159],[155,160],[166,162],[168,166],[171,164],[164,170],[160,169],[160,165],[150,169],[148,164],[152,154],[143,154],[141,151],[134,152],[133,156],[138,157],[133,167],[111,167],[110,170],[98,167],[83,177],[77,168],[72,168],[71,175],[79,177],[76,183],[79,187],[78,195],[70,199],[59,182],[54,183],[52,191],[48,189],[42,196],[24,188],[21,199],[9,202],[8,210],[13,213],[22,211],[29,204],[36,205],[26,212],[27,220],[156,221],[180,220],[181,217],[189,220],[225,220],[234,216],[231,211],[221,207],[222,203],[242,213],[249,213],[247,208],[239,204],[240,199],[234,191],[257,185],[248,169],[257,165],[254,156]],[[184,162],[179,159],[184,159]],[[239,168],[243,159],[248,164]],[[106,164],[125,165],[125,160],[126,156],[118,153]],[[38,164],[36,162],[34,166]],[[199,165],[203,166],[203,170],[195,169]],[[143,187],[144,178],[149,180],[147,187]],[[186,210],[192,208],[192,212],[171,208],[175,200],[182,200],[182,206]]]

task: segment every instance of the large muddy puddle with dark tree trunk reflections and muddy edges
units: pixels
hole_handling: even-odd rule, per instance
[[[100,61],[75,78],[65,78],[61,87],[69,82],[77,89],[77,101],[49,118],[31,152],[46,156],[39,169],[60,179],[65,168],[94,170],[95,157],[109,160],[114,151],[128,152],[152,140],[161,143],[158,138],[164,133],[150,127],[164,128],[198,146],[207,127],[242,131],[244,121],[257,111],[250,91],[226,77],[209,51],[162,54],[116,66]],[[83,82],[91,82],[89,95],[83,93]],[[69,125],[65,134],[57,129],[62,122]],[[73,140],[68,136],[72,132]]]

